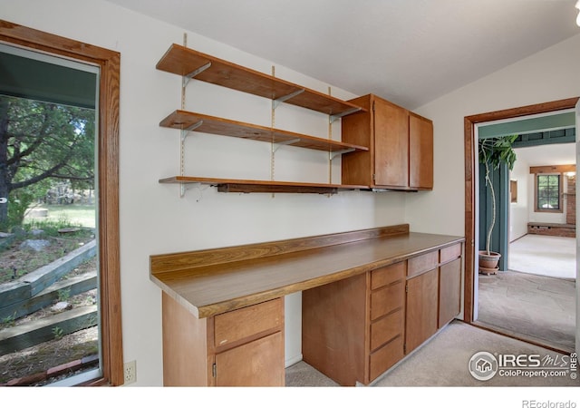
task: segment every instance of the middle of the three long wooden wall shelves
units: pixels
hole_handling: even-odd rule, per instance
[[[182,131],[201,131],[204,133],[232,136],[253,141],[287,144],[317,151],[336,154],[350,151],[368,151],[369,148],[342,141],[316,138],[292,131],[282,131],[241,121],[230,121],[201,113],[175,111],[160,121],[160,126]]]

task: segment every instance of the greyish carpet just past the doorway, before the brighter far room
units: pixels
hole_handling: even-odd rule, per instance
[[[575,281],[513,271],[479,275],[478,321],[573,351]]]

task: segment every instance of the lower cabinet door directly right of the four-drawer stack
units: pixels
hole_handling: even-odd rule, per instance
[[[438,269],[407,281],[405,352],[408,354],[437,332]]]

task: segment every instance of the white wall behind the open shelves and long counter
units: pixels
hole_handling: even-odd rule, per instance
[[[97,0],[0,0],[1,18],[121,53],[120,201],[123,355],[137,361],[135,385],[162,384],[160,289],[149,279],[149,257],[174,251],[217,248],[304,237],[404,222],[404,193],[225,194],[191,187],[179,198],[177,185],[160,178],[179,174],[179,131],[160,128],[180,108],[178,76],[155,64],[183,30]],[[273,63],[197,34],[188,46],[271,73]],[[275,74],[320,92],[320,83],[285,67]],[[332,88],[334,96],[355,95]],[[188,110],[270,125],[270,102],[206,83],[193,82]],[[289,105],[276,110],[275,127],[327,137],[327,116]],[[340,138],[340,121],[333,126]],[[186,141],[186,174],[266,179],[270,146],[255,141],[193,135]],[[333,167],[340,180],[340,160]],[[283,147],[275,156],[276,180],[328,180],[327,155]],[[286,360],[300,359],[300,294],[286,299]]]

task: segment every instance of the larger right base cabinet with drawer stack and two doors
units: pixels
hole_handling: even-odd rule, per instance
[[[370,384],[458,316],[462,244],[302,294],[305,363],[341,385]]]

